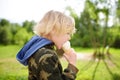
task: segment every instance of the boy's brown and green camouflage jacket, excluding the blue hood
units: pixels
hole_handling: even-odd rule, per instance
[[[28,80],[75,80],[78,69],[69,64],[63,71],[53,45],[49,45],[29,58],[28,71]]]

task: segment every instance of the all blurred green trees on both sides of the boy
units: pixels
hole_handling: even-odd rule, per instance
[[[78,15],[73,8],[68,6],[66,10],[75,19],[77,29],[71,38],[72,46],[79,47],[117,47],[120,48],[120,0],[116,1],[116,7],[110,0],[86,0],[84,10]],[[101,5],[101,6],[99,6]],[[109,16],[115,8],[114,24],[109,27]],[[104,17],[101,18],[102,14]],[[0,44],[25,44],[33,35],[34,21],[24,21],[22,24],[10,23],[6,19],[0,19]],[[116,28],[117,27],[117,28]]]

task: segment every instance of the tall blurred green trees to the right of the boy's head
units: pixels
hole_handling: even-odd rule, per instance
[[[81,15],[76,15],[71,7],[67,8],[71,13],[70,15],[74,17],[75,27],[77,28],[76,34],[71,39],[72,46],[106,47],[109,45],[115,47],[113,44],[118,44],[119,36],[115,36],[119,34],[119,29],[116,30],[115,27],[108,26],[109,16],[111,15],[111,7],[109,6],[111,4],[109,0],[86,0]],[[104,15],[103,18],[101,18],[100,13]],[[114,24],[114,26],[117,25]],[[111,29],[112,32],[110,32]],[[117,44],[116,46],[118,46]],[[120,47],[118,46],[118,48]]]

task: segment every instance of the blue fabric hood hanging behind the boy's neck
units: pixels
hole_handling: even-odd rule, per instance
[[[21,64],[27,66],[28,59],[32,54],[34,54],[39,48],[52,43],[52,41],[46,38],[40,36],[33,36],[18,52],[16,58]]]

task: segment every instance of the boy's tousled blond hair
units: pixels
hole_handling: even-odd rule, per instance
[[[56,34],[66,32],[73,34],[75,32],[74,19],[61,12],[51,10],[34,26],[33,30],[37,35],[43,36],[49,34],[53,29],[56,31]]]

